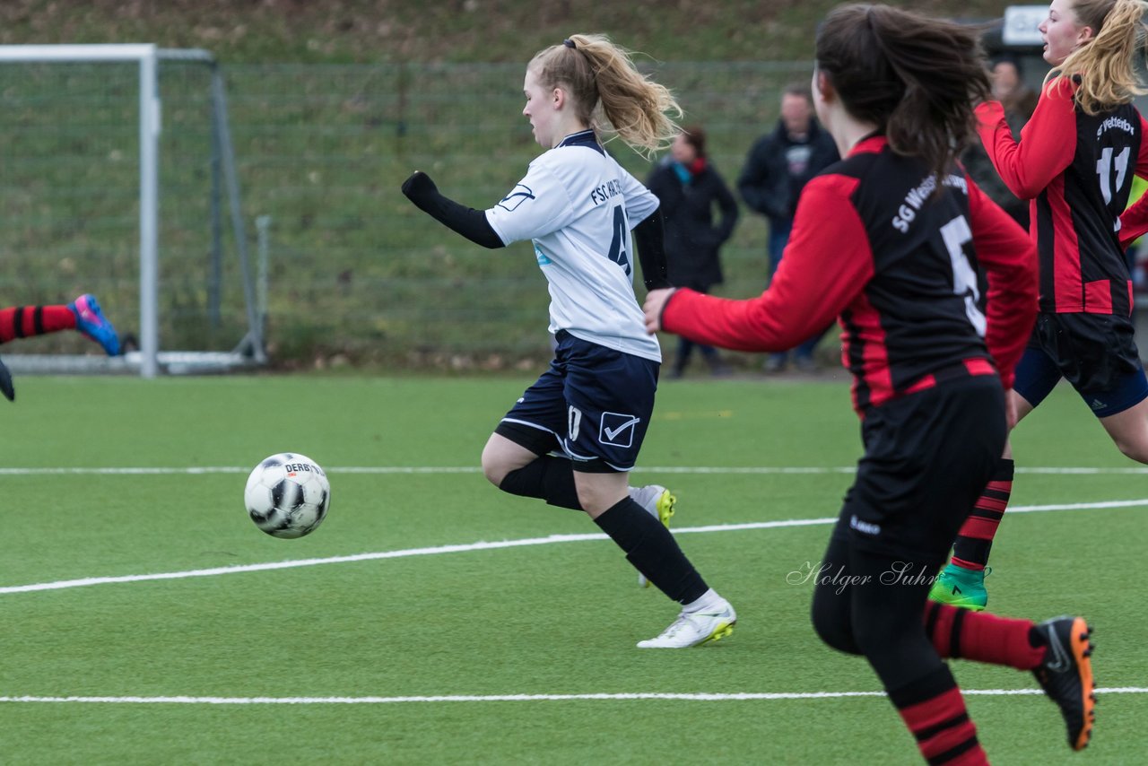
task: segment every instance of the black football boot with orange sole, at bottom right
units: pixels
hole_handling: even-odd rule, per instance
[[[1064,717],[1069,746],[1084,750],[1096,720],[1092,678],[1092,628],[1080,617],[1056,617],[1037,625],[1048,642],[1048,653],[1032,674]]]

